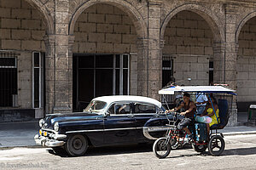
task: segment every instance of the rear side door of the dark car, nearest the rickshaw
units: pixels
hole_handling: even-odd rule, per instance
[[[157,115],[157,106],[148,103],[133,104],[134,118],[137,125],[136,139],[138,143],[148,141],[143,135],[144,124],[152,117]]]

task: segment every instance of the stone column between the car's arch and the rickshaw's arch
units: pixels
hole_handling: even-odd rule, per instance
[[[148,0],[148,38],[138,42],[138,94],[160,99],[160,11],[162,0]]]

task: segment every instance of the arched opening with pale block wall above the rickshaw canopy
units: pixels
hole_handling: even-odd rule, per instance
[[[213,81],[213,39],[211,27],[200,14],[183,10],[166,25],[163,48],[163,86],[208,85]],[[188,81],[191,78],[191,81]]]

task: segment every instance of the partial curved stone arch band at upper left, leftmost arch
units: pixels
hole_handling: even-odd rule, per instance
[[[37,8],[40,11],[40,14],[44,16],[44,20],[46,22],[47,34],[53,35],[55,34],[55,24],[54,20],[49,12],[49,9],[45,7],[45,5],[39,0],[25,0],[27,3],[31,4],[32,7]]]

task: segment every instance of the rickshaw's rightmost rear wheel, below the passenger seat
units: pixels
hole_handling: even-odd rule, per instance
[[[208,150],[212,156],[219,156],[225,148],[224,139],[219,136],[215,135],[209,141]]]

